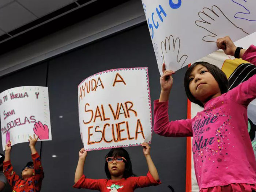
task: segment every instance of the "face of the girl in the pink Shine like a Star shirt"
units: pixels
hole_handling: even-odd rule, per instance
[[[209,99],[221,95],[218,82],[201,64],[196,65],[189,76],[189,90],[203,104]]]

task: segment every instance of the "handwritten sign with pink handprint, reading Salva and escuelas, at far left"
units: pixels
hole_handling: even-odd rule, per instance
[[[28,142],[29,135],[52,140],[48,87],[25,86],[0,94],[2,146]]]

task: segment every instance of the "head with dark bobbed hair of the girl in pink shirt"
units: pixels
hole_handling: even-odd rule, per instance
[[[188,68],[184,77],[184,86],[188,99],[204,107],[218,93],[227,92],[227,76],[221,69],[207,62],[196,62]]]

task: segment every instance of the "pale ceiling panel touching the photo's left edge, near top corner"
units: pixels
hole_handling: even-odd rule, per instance
[[[0,28],[7,32],[29,23],[34,19],[36,19],[36,17],[17,2],[0,9]]]

